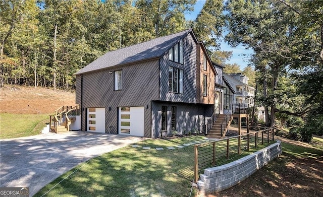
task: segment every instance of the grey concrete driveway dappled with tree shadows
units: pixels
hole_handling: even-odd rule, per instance
[[[29,187],[32,196],[78,164],[141,140],[87,132],[1,140],[0,186]]]

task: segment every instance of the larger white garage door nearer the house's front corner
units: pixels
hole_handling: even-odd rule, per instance
[[[119,107],[119,134],[143,136],[144,107]]]

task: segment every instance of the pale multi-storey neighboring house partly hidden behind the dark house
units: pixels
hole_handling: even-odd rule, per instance
[[[248,85],[249,78],[241,73],[223,73],[223,76],[230,86],[235,89],[235,95],[233,97],[234,105],[244,104],[247,107],[253,106],[255,88]]]

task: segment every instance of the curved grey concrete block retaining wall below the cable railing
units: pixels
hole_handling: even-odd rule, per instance
[[[266,148],[231,163],[207,168],[200,175],[197,186],[203,193],[223,191],[232,187],[282,153],[281,142],[277,141]]]

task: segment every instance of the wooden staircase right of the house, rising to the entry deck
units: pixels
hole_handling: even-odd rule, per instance
[[[233,117],[231,114],[219,114],[216,121],[213,122],[213,125],[207,134],[207,137],[217,139],[224,138],[229,129],[232,118]]]

